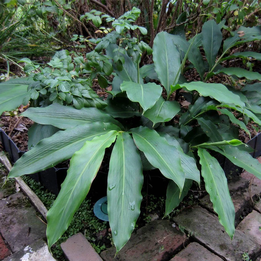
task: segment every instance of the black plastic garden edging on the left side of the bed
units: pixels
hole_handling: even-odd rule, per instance
[[[15,143],[8,137],[8,135],[0,128],[0,141],[3,146],[3,150],[8,152],[12,163],[15,163],[25,152],[20,151]],[[35,181],[40,182],[45,189],[48,189],[53,194],[58,195],[61,184],[63,183],[68,168],[48,168],[45,171],[40,171],[29,175]]]

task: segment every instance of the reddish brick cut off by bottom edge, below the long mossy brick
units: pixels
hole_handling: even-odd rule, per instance
[[[170,261],[223,261],[200,244],[193,242],[177,253]]]

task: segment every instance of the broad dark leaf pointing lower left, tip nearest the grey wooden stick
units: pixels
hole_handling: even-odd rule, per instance
[[[89,122],[65,131],[56,132],[52,137],[41,140],[15,162],[8,177],[19,177],[53,167],[70,159],[86,141],[120,128],[111,123]]]

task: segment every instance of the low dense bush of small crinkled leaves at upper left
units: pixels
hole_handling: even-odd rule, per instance
[[[81,77],[88,73],[83,57],[75,57],[73,63],[69,52],[64,50],[56,52],[47,63],[49,67],[39,68],[39,65],[34,65],[28,58],[22,59],[21,62],[26,63],[24,70],[27,73],[32,70],[38,71],[33,74],[34,81],[27,88],[27,94],[23,99],[24,105],[30,100],[33,106],[43,107],[59,103],[72,105],[76,109],[83,107],[103,109],[107,105],[90,87],[90,79]]]

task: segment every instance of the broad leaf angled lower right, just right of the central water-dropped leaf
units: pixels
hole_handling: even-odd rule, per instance
[[[165,138],[147,127],[130,130],[136,146],[143,151],[152,166],[159,168],[161,173],[173,180],[179,187],[180,193],[185,181],[185,172],[181,166],[178,150],[169,145]]]

